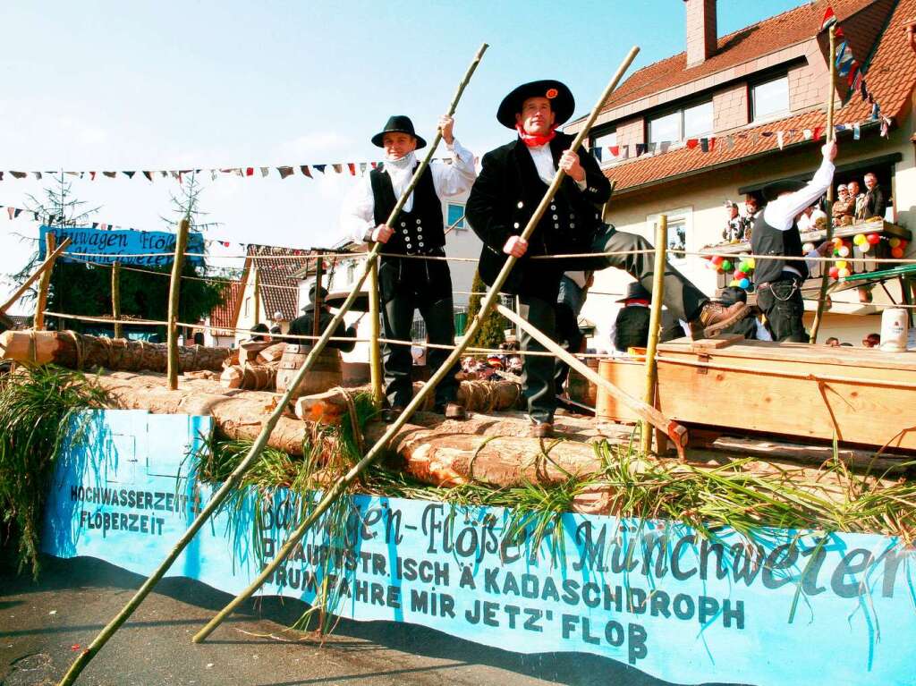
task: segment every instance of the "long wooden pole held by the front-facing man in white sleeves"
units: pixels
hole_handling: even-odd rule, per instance
[[[477,54],[474,56],[474,60],[471,62],[471,66],[464,74],[464,78],[459,84],[458,91],[455,93],[451,107],[449,108],[448,114],[450,116],[454,114],[455,108],[458,106],[458,101],[461,99],[461,96],[464,93],[464,88],[467,86],[468,82],[471,81],[471,76],[477,69],[477,65],[483,58],[486,49],[487,45],[484,43],[481,48],[477,50]],[[414,172],[413,178],[410,180],[404,195],[398,200],[398,202],[395,203],[394,209],[392,209],[391,214],[388,216],[387,223],[393,224],[395,223],[395,220],[397,220],[398,214],[404,207],[404,202],[407,201],[410,193],[413,192],[413,190],[416,188],[417,182],[420,180],[420,175],[422,175],[422,173],[429,167],[430,160],[435,153],[436,147],[439,146],[441,140],[442,132],[439,132],[433,139],[426,158],[420,162],[420,166]],[[311,351],[305,358],[305,362],[301,366],[299,372],[296,373],[296,376],[290,382],[289,389],[287,390],[286,394],[279,399],[277,407],[274,408],[273,412],[270,413],[270,416],[267,417],[267,420],[264,422],[261,432],[258,434],[255,442],[252,443],[250,450],[245,455],[245,459],[242,460],[242,462],[239,463],[237,467],[235,467],[234,472],[229,475],[229,478],[226,479],[224,485],[222,485],[220,489],[215,494],[213,494],[210,502],[207,503],[207,506],[203,508],[202,512],[194,519],[193,522],[191,522],[191,526],[187,531],[184,532],[184,535],[181,536],[179,541],[175,544],[175,547],[169,552],[169,555],[166,556],[165,560],[159,564],[156,571],[147,578],[147,581],[144,582],[142,586],[140,586],[134,596],[130,599],[130,601],[128,601],[127,604],[125,604],[121,611],[115,615],[114,618],[106,626],[104,626],[102,631],[99,632],[99,635],[95,637],[89,648],[83,650],[79,657],[73,661],[70,670],[67,670],[67,673],[63,676],[63,679],[60,680],[59,686],[67,686],[67,684],[71,684],[76,681],[82,670],[86,668],[86,665],[88,665],[93,657],[98,653],[98,651],[104,647],[105,643],[108,642],[108,639],[114,636],[114,633],[122,625],[124,625],[130,615],[134,614],[136,608],[139,607],[139,605],[144,601],[144,599],[153,590],[153,588],[165,575],[165,573],[169,571],[169,568],[178,559],[181,551],[188,546],[188,544],[191,542],[191,539],[194,538],[194,536],[202,528],[206,521],[213,515],[213,512],[222,506],[226,497],[232,491],[234,491],[235,488],[238,487],[242,481],[242,477],[255,463],[257,457],[261,454],[261,451],[264,450],[264,446],[267,445],[267,439],[270,437],[270,434],[273,433],[273,430],[277,426],[280,417],[289,406],[289,401],[293,397],[293,394],[296,393],[297,389],[300,387],[302,379],[305,378],[306,374],[309,373],[311,365],[314,364],[315,360],[318,358],[318,355],[322,353],[322,350],[324,350],[324,346],[327,345],[328,341],[333,335],[333,332],[336,331],[337,325],[344,320],[344,314],[348,312],[351,307],[353,307],[353,303],[356,301],[356,296],[363,288],[365,279],[369,275],[369,269],[371,268],[370,263],[374,258],[378,256],[380,250],[380,244],[373,246],[369,253],[368,259],[363,266],[362,274],[357,279],[353,289],[350,290],[350,295],[347,296],[346,300],[344,300],[344,304],[341,306],[340,310],[338,310],[337,314],[334,315],[333,320],[328,324],[328,327],[322,333],[322,337],[312,346]],[[388,437],[387,440],[389,441],[390,437]],[[343,487],[345,486],[346,485]],[[327,509],[327,506],[329,505],[330,501],[325,504],[324,509]],[[202,640],[202,638],[198,639],[195,637],[195,640]]]

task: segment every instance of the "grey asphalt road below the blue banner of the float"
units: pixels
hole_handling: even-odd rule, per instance
[[[16,575],[0,550],[0,682],[54,684],[76,651],[127,602],[136,574],[90,559],[46,558],[38,583]],[[304,604],[247,604],[203,645],[191,636],[229,600],[187,579],[158,585],[82,673],[90,684],[615,684],[664,686],[613,660],[518,655],[419,626],[342,621],[322,643],[290,632]]]

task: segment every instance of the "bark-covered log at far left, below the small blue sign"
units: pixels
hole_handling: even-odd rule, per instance
[[[229,351],[203,345],[179,347],[182,372],[209,369],[218,372]],[[77,332],[7,331],[0,333],[0,359],[31,365],[51,363],[71,369],[105,369],[164,372],[168,362],[165,343],[127,341],[88,336]]]

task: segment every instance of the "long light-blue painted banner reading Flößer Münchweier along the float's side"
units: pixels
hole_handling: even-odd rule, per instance
[[[100,411],[61,456],[44,549],[147,574],[211,495],[186,478],[198,417]],[[263,593],[430,626],[523,653],[578,651],[675,683],[916,684],[914,550],[872,535],[761,529],[715,541],[674,522],[565,515],[535,545],[501,508],[356,496],[345,534],[320,523]],[[171,575],[237,593],[295,528],[300,502],[244,494]],[[562,541],[562,545],[560,545]]]

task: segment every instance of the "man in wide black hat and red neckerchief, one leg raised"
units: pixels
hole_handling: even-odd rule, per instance
[[[503,290],[518,294],[522,316],[551,337],[555,336],[554,303],[564,271],[618,267],[627,270],[645,288],[652,287],[649,241],[602,223],[600,207],[610,197],[610,183],[583,148],[569,149],[573,136],[556,131],[573,115],[574,108],[573,93],[558,81],[525,83],[509,93],[499,105],[496,119],[517,131],[518,139],[484,156],[483,169],[466,207],[474,232],[484,242],[481,278],[492,284],[507,255],[521,258]],[[530,239],[522,240],[519,234],[558,169],[566,173],[566,179]],[[529,259],[584,252],[636,254],[580,261]],[[692,331],[707,336],[747,312],[745,305],[726,310],[710,302],[670,265],[665,272],[665,304],[676,317],[690,321]],[[524,333],[522,348],[543,350]],[[553,368],[551,357],[525,357],[522,383],[535,436],[549,436],[553,430]]]

